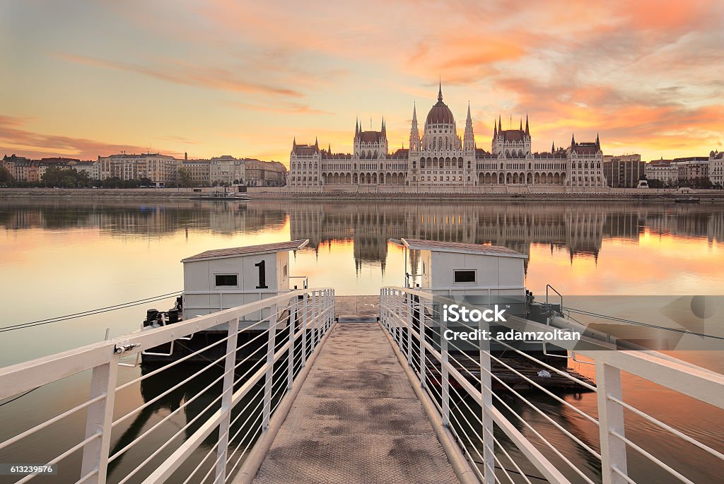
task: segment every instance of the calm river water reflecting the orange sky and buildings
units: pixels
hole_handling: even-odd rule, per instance
[[[378,294],[380,286],[403,284],[403,252],[387,242],[390,237],[492,243],[523,252],[529,256],[526,286],[537,297],[544,294],[546,284],[565,296],[724,294],[721,205],[3,200],[0,329],[180,291],[182,258],[209,249],[289,239],[310,240],[308,247],[292,258],[292,275],[308,276],[310,286],[332,286],[336,294]],[[148,307],[165,309],[172,302],[169,298],[0,333],[0,367],[100,341],[106,328],[111,337],[135,331]],[[722,352],[689,351],[676,356],[724,373]],[[581,373],[591,373],[585,365],[571,365]],[[136,378],[139,371],[122,368],[119,383]],[[87,378],[77,375],[63,385],[44,387],[7,404],[0,402],[0,441],[35,425],[41,417],[52,417],[82,401],[79,394],[87,391]],[[123,441],[127,432],[150,428],[193,394],[194,388],[161,399],[149,407],[143,420],[119,428],[119,435],[124,435],[114,444]],[[119,396],[117,405],[138,406],[163,389],[130,387]],[[724,451],[724,412],[631,375],[624,375],[624,395],[627,402]],[[594,394],[565,398],[595,414]],[[531,399],[545,412],[557,415],[564,427],[573,426],[597,441],[597,430],[587,428],[575,412],[542,395],[534,394]],[[547,425],[530,409],[514,401],[510,404],[531,423]],[[179,428],[190,418],[179,415]],[[653,446],[654,454],[665,462],[682,461],[683,456],[686,464],[679,470],[696,483],[720,482],[717,461],[708,454],[662,437],[635,415],[626,418],[627,437]],[[38,440],[28,438],[12,451],[0,451],[0,462],[46,462],[59,454],[68,447],[64,441],[78,441],[71,438],[77,437],[72,436],[74,425],[84,427],[82,416],[77,422],[68,420]],[[177,428],[152,433],[147,438],[148,449],[175,431]],[[574,464],[594,481],[599,480],[599,464],[586,451],[555,431],[548,435]],[[79,459],[71,457],[67,468],[72,469]],[[143,455],[119,460],[111,470],[110,482],[118,482]],[[639,483],[678,482],[632,450],[629,470]],[[580,481],[575,473],[567,475]],[[74,482],[77,477],[60,475],[52,482]],[[0,477],[1,482],[3,479]],[[51,482],[50,477],[46,479]]]

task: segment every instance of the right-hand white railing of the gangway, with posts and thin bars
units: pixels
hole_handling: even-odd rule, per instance
[[[473,470],[482,483],[500,483],[503,476],[510,483],[518,483],[521,480],[531,483],[529,477],[532,476],[526,475],[521,469],[525,467],[530,469],[530,464],[539,472],[540,476],[535,476],[536,478],[543,477],[552,483],[570,483],[571,479],[591,484],[636,483],[628,473],[626,457],[628,449],[633,449],[675,480],[691,483],[691,478],[686,476],[686,461],[682,459],[680,462],[663,462],[660,457],[655,457],[652,451],[645,449],[645,442],[636,443],[626,436],[624,410],[643,418],[647,425],[651,425],[657,432],[662,432],[665,438],[681,439],[682,442],[690,443],[718,461],[724,462],[724,454],[721,451],[697,441],[681,430],[652,417],[643,409],[627,403],[623,397],[621,373],[626,372],[645,378],[719,409],[724,409],[724,375],[657,352],[613,350],[598,341],[585,340],[583,344],[578,341],[575,353],[586,357],[595,365],[594,386],[510,346],[505,341],[490,339],[495,344],[505,347],[507,352],[515,353],[515,357],[534,362],[542,370],[555,372],[560,377],[576,382],[587,391],[596,392],[597,413],[594,417],[521,373],[511,365],[510,360],[506,362],[506,359],[502,359],[500,355],[492,354],[490,341],[475,343],[477,354],[473,357],[470,347],[460,349],[457,345],[460,344],[459,341],[447,341],[443,338],[446,323],[442,322],[440,312],[442,305],[451,303],[460,304],[460,301],[447,300],[424,291],[384,287],[380,292],[380,322],[390,333],[400,352],[406,357],[409,367],[417,375],[421,387],[437,407],[442,423],[458,440],[467,459],[474,464]],[[552,331],[550,326],[510,315],[506,315],[506,320],[507,322],[494,324],[518,331],[523,331],[523,328]],[[455,325],[465,328],[466,331],[489,330],[489,323],[484,320],[478,323],[478,327],[471,327],[459,321]],[[573,346],[569,349],[572,350]],[[567,412],[574,412],[577,417],[581,417],[582,422],[592,426],[588,429],[590,431],[584,432],[578,429],[577,425],[571,425],[570,428],[560,425],[555,415],[548,415],[521,391],[503,381],[497,372],[492,371],[492,362],[514,373],[527,385],[544,392],[558,404],[562,404]],[[505,389],[505,395],[494,391],[493,383]],[[511,402],[511,396],[515,404]],[[574,464],[571,456],[566,455],[568,453],[566,449],[570,446],[552,442],[544,435],[549,433],[547,430],[534,428],[529,422],[530,418],[521,415],[523,414],[521,411],[515,411],[516,405],[526,409],[527,414],[542,419],[549,429],[555,428],[557,432],[570,439],[576,448],[582,449],[589,462],[600,462],[600,471],[584,472],[580,468],[582,466]],[[515,462],[511,456],[510,446],[508,449],[501,446],[498,438],[500,434],[497,436],[494,433],[494,426],[502,430],[517,448],[516,454],[522,454],[527,462],[523,464]],[[592,433],[597,435],[594,442],[590,439]],[[555,457],[552,457],[553,455]],[[513,468],[504,465],[501,459],[510,462]],[[500,470],[498,475],[496,469]],[[643,482],[651,481],[647,477]]]

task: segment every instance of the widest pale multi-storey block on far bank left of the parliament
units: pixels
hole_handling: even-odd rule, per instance
[[[101,179],[138,180],[148,178],[153,183],[176,182],[181,160],[159,153],[98,156]]]

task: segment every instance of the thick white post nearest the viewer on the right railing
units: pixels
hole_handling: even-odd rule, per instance
[[[623,400],[621,371],[603,362],[596,362],[596,394],[598,398],[598,423],[601,438],[601,470],[603,484],[624,484],[626,480],[613,470],[616,467],[628,475],[626,442],[611,432],[623,433],[623,407],[608,396]]]

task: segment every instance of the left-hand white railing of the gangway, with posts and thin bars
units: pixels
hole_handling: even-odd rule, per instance
[[[269,310],[269,316],[240,328],[240,320],[244,320],[246,315],[260,314],[261,310]],[[160,483],[173,476],[173,482],[189,483],[204,482],[213,476],[214,483],[230,482],[256,438],[269,428],[271,415],[279,407],[283,396],[292,389],[295,377],[306,365],[333,320],[334,290],[302,289],[1,368],[0,400],[82,372],[90,372],[90,389],[82,402],[35,423],[27,430],[7,437],[0,429],[0,438],[4,438],[0,442],[0,455],[5,459],[12,458],[14,462],[24,462],[22,454],[13,454],[14,446],[30,436],[43,435],[44,430],[54,425],[68,425],[66,419],[75,419],[78,412],[85,411],[84,438],[45,461],[56,464],[72,454],[82,453],[77,471],[63,467],[64,482],[69,482],[69,472],[77,472],[77,483],[105,483],[109,479],[109,466],[133,453],[133,459],[142,462],[124,475],[111,476],[111,480],[119,484]],[[194,348],[193,352],[189,350],[188,354],[160,368],[118,384],[119,368],[135,367],[140,352],[159,345],[170,345],[173,341],[182,340],[188,344],[188,339],[200,331],[223,324],[228,326],[225,337],[221,334],[211,344]],[[248,340],[242,342],[241,335]],[[248,355],[237,360],[240,352],[248,352]],[[206,357],[205,354],[214,356]],[[179,378],[174,371],[169,371],[173,368],[178,370],[179,365],[194,357],[201,357],[205,363],[188,377]],[[135,363],[132,362],[134,359]],[[223,372],[218,368],[223,368]],[[130,419],[138,417],[173,391],[185,389],[190,381],[202,374],[209,381],[203,390],[186,396],[182,404],[148,428],[144,426],[143,433],[132,440],[119,439],[118,434],[122,428],[128,427]],[[152,378],[160,378],[169,388],[136,407],[114,407],[118,394],[138,389],[138,385]],[[180,412],[187,412],[190,404],[200,404],[203,400],[200,397],[211,399],[211,402],[200,411],[194,410],[192,415],[196,415],[179,428],[180,423],[174,421],[174,417]],[[167,424],[172,425],[169,427]],[[169,428],[178,430],[167,438]],[[162,443],[151,445],[147,437],[159,429],[164,429],[161,431]],[[182,464],[193,453],[198,453],[202,442],[208,444],[215,431],[215,443],[211,449],[188,475],[180,475]],[[111,450],[111,444],[117,447]],[[202,472],[206,472],[203,477]],[[33,474],[25,475],[17,483],[28,482],[33,477]]]

